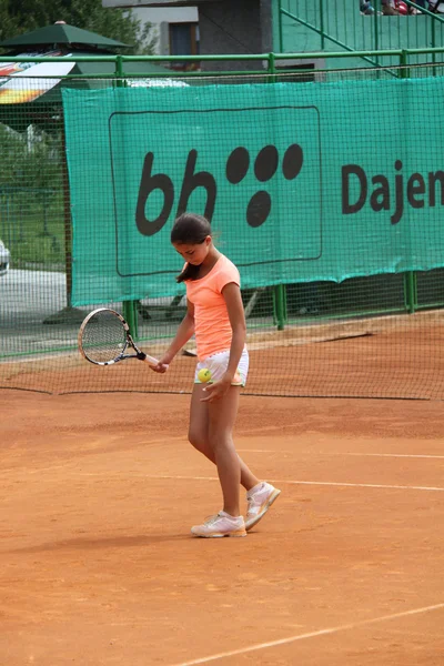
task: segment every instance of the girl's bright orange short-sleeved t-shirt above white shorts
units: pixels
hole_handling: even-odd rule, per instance
[[[194,305],[194,333],[200,361],[231,346],[233,331],[222,290],[230,282],[241,286],[235,265],[223,254],[200,280],[186,280],[186,299]]]

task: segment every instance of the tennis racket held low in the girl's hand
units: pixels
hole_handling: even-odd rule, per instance
[[[137,346],[123,316],[108,307],[99,307],[83,320],[78,343],[81,355],[95,365],[112,365],[125,359],[145,361],[151,367],[159,363]],[[128,353],[131,350],[134,354]]]

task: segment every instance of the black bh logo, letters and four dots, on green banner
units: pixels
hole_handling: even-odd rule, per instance
[[[282,153],[282,151],[281,151]],[[205,192],[204,216],[211,222],[218,196],[218,183],[210,171],[198,168],[199,153],[190,150],[184,168],[183,181],[180,189],[176,216],[186,211],[189,200],[198,188]],[[272,211],[272,198],[266,191],[266,183],[281,173],[286,181],[294,180],[303,168],[304,153],[297,143],[290,144],[282,154],[275,145],[264,145],[256,154],[250,154],[244,147],[238,147],[229,154],[224,164],[223,186],[236,188],[244,182],[248,174],[254,175],[252,191],[245,190],[245,220],[252,226],[261,226]],[[251,182],[251,179],[249,180]],[[163,195],[163,206],[159,215],[147,218],[147,203],[150,196],[160,191]],[[159,192],[158,192],[159,193]],[[174,206],[175,191],[172,179],[165,173],[157,173],[154,153],[147,153],[140,181],[135,222],[141,234],[150,236],[162,229],[169,220]]]

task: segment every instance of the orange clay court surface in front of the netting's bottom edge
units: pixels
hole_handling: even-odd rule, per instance
[[[443,403],[243,396],[282,495],[199,539],[189,400],[0,392],[1,666],[442,666]]]

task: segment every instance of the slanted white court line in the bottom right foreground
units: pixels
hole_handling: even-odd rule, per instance
[[[279,640],[270,640],[269,643],[256,643],[249,647],[241,647],[239,649],[232,649],[225,653],[219,653],[210,655],[209,657],[202,657],[200,659],[193,659],[192,662],[181,662],[174,666],[194,666],[194,664],[206,664],[208,662],[215,662],[216,659],[223,659],[224,657],[234,657],[235,655],[244,655],[246,653],[256,652],[259,649],[266,649],[268,647],[275,647],[278,645],[287,645],[289,643],[295,643],[296,640],[304,640],[305,638],[315,638],[316,636],[326,636],[329,634],[337,634],[339,632],[346,632],[349,629],[356,629],[366,625],[375,624],[377,622],[387,622],[390,619],[397,619],[400,617],[407,617],[408,615],[418,615],[420,613],[428,613],[431,610],[437,610],[444,608],[444,604],[435,604],[434,606],[424,606],[423,608],[414,608],[413,610],[404,610],[403,613],[394,613],[393,615],[382,615],[381,617],[374,617],[373,619],[362,619],[361,622],[354,622],[351,624],[340,625],[337,627],[329,627],[326,629],[320,629],[319,632],[310,632],[307,634],[296,634],[295,636],[287,636],[286,638],[280,638]]]

